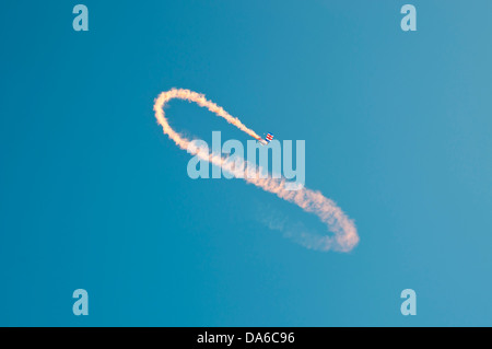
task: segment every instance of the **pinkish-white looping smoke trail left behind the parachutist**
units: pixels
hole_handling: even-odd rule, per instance
[[[155,118],[162,126],[164,133],[166,133],[176,143],[176,146],[183,150],[187,150],[191,141],[176,132],[169,126],[164,114],[164,106],[167,102],[174,98],[197,103],[199,106],[209,109],[216,116],[224,118],[227,123],[234,125],[247,135],[259,139],[259,136],[254,130],[247,128],[238,118],[233,117],[215,103],[208,101],[203,94],[190,90],[172,89],[169,91],[162,92],[155,100]],[[335,249],[349,252],[359,243],[359,235],[353,221],[349,219],[332,200],[324,197],[321,193],[304,187],[298,190],[288,190],[285,189],[284,179],[277,179],[272,177],[249,178],[244,175],[244,170],[236,167],[233,168],[232,164],[219,154],[211,153],[203,155],[202,152],[197,152],[197,155],[204,161],[209,161],[216,166],[221,166],[237,178],[243,178],[247,183],[254,184],[266,191],[273,193],[278,197],[297,205],[306,212],[316,214],[324,223],[327,224],[328,230],[332,232],[333,235],[304,234],[302,236],[304,237],[302,244],[305,247],[318,251]]]

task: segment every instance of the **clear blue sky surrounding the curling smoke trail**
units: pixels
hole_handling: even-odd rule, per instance
[[[0,12],[0,325],[492,325],[491,1],[83,1],[74,32],[77,3]],[[315,216],[190,179],[152,110],[174,86],[306,140],[306,186],[359,246],[306,249],[265,219]],[[196,105],[168,115],[247,140]]]

